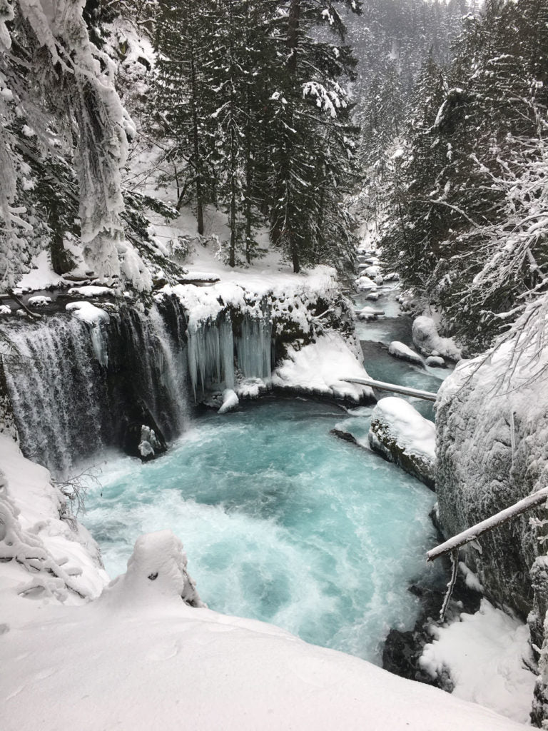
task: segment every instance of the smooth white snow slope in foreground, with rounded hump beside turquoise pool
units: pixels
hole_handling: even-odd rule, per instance
[[[59,520],[47,471],[7,436],[0,463],[0,556],[17,556],[0,563],[3,731],[523,728],[274,626],[199,607],[170,531],[140,538],[126,575],[105,586],[93,539]]]

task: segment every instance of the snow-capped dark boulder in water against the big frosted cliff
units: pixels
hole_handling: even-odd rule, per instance
[[[390,462],[435,486],[435,426],[403,398],[381,398],[373,409],[369,444]]]

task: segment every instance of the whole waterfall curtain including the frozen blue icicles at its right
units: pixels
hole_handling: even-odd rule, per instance
[[[186,428],[189,385],[196,400],[242,376],[267,379],[273,364],[266,316],[189,323],[175,297],[147,313],[122,305],[89,323],[61,312],[1,330],[18,352],[4,370],[23,453],[54,473],[104,447],[139,455],[143,426],[163,449]]]

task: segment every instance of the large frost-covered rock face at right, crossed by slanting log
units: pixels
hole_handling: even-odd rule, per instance
[[[548,387],[542,382],[548,354],[535,351],[534,358],[527,349],[518,355],[512,342],[503,344],[487,359],[461,363],[440,390],[436,488],[447,537],[548,484]],[[537,648],[548,608],[546,518],[545,507],[530,511],[484,534],[479,550],[468,545],[463,551],[487,597],[528,618]],[[545,689],[541,681],[533,717],[539,724],[548,718]]]

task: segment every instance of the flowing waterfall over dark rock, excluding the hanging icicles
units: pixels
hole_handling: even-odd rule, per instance
[[[185,428],[186,344],[156,306],[91,325],[65,314],[7,322],[3,333],[18,354],[4,370],[23,453],[51,471],[104,447],[134,453],[142,425],[165,439]]]

